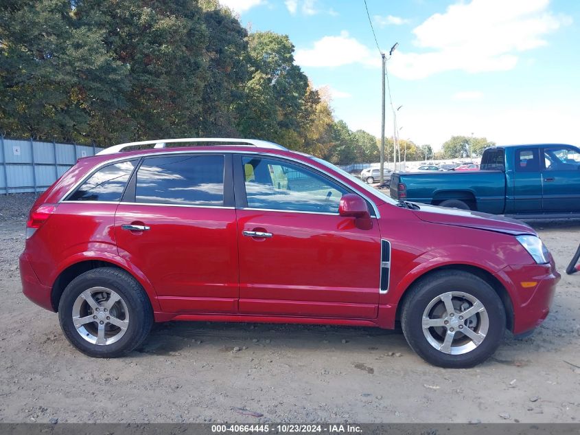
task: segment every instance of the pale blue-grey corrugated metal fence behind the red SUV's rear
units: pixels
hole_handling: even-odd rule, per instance
[[[0,135],[0,194],[43,192],[79,157],[100,150],[96,146],[14,140]]]

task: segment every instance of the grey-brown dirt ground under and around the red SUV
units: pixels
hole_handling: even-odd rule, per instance
[[[91,359],[21,293],[21,210],[0,199],[0,421],[575,422],[580,222],[534,223],[563,278],[535,335],[485,364],[434,368],[376,328],[173,322],[123,359]],[[12,201],[10,206],[3,201]],[[25,199],[23,201],[30,201]],[[10,210],[16,210],[10,216]]]

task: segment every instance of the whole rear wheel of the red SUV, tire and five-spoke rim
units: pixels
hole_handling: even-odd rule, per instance
[[[148,296],[126,271],[101,267],[76,277],[58,305],[60,327],[91,357],[124,355],[143,342],[153,314]]]

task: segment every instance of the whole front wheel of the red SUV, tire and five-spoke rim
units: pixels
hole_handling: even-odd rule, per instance
[[[504,306],[484,280],[464,271],[440,271],[410,289],[401,315],[415,352],[434,366],[473,367],[503,339]]]

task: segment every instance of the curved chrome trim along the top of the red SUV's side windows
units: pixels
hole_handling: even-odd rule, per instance
[[[165,148],[163,148],[163,149],[165,149]],[[177,151],[176,148],[167,148],[167,152],[165,152],[165,153],[139,153],[139,154],[134,154],[134,155],[130,155],[130,156],[125,155],[123,157],[117,157],[115,159],[108,159],[106,161],[102,161],[100,164],[95,166],[90,172],[88,172],[86,175],[84,175],[84,177],[82,177],[79,181],[74,183],[73,186],[64,195],[62,195],[62,197],[60,198],[58,203],[72,202],[72,201],[65,201],[65,198],[68,197],[69,194],[71,194],[76,188],[78,188],[78,186],[80,186],[82,183],[84,183],[84,181],[86,181],[87,178],[91,177],[91,175],[93,175],[95,172],[97,172],[98,170],[100,170],[104,166],[108,166],[110,164],[115,164],[115,163],[118,163],[119,161],[124,161],[124,160],[141,159],[143,157],[158,157],[158,156],[162,156],[162,155],[174,155],[174,154],[253,154],[253,155],[265,155],[265,156],[270,156],[270,157],[272,157],[272,156],[277,157],[279,159],[286,159],[286,160],[290,160],[290,161],[295,161],[299,164],[303,164],[305,166],[308,166],[309,168],[312,168],[318,172],[323,172],[320,168],[317,168],[316,166],[314,166],[306,161],[302,161],[300,159],[295,159],[294,157],[288,157],[286,155],[266,153],[264,151],[259,151],[259,150],[255,150],[255,151],[238,151],[238,150]],[[113,154],[111,154],[111,155],[113,155]],[[305,155],[305,157],[308,157],[310,159],[313,158],[310,155],[306,155],[306,154],[304,154],[304,155]],[[332,168],[330,168],[330,169],[332,169]],[[323,172],[323,173],[325,173],[325,172]],[[329,175],[329,174],[326,172],[326,175]],[[347,188],[347,190],[356,190],[352,186],[349,186],[349,185],[343,183],[343,181],[341,181],[340,179],[336,179],[336,177],[332,177],[332,178],[334,181],[336,181],[336,183],[340,184],[340,186],[344,186],[345,188]],[[358,186],[358,184],[356,186]],[[366,189],[366,187],[365,187],[365,189]],[[371,188],[369,187],[369,189],[371,189]],[[380,219],[381,215],[380,215],[380,212],[379,212],[377,205],[375,204],[375,201],[373,201],[372,199],[367,197],[365,194],[360,192],[360,190],[356,190],[356,192],[361,197],[363,197],[364,199],[369,201],[369,203],[373,206],[373,211],[375,212],[375,216],[372,216],[372,217],[375,217],[376,219]],[[82,201],[82,202],[86,202],[86,201]],[[102,202],[102,201],[96,201],[96,202]],[[170,204],[160,204],[160,205],[170,205]],[[264,209],[259,209],[259,210],[264,210]],[[285,211],[285,210],[275,210],[275,211],[280,212],[280,211]]]

